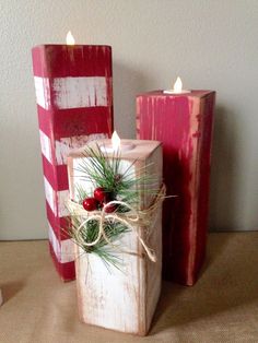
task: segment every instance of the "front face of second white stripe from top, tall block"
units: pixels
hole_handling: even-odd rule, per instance
[[[85,145],[89,141],[105,139],[108,135],[105,133],[94,133],[90,135],[73,135],[61,138],[56,141],[56,163],[57,165],[67,164],[67,157],[73,149],[79,149]]]

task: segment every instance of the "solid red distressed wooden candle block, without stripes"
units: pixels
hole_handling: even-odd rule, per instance
[[[215,93],[162,91],[137,97],[139,139],[163,142],[167,194],[163,208],[163,273],[192,285],[207,241],[211,135]]]

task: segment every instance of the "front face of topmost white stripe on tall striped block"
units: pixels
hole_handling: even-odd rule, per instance
[[[107,106],[106,78],[54,79],[55,105],[60,108]]]

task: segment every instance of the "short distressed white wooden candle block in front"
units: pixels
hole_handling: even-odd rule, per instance
[[[105,143],[105,141],[102,141]],[[98,144],[102,144],[98,142]],[[124,142],[124,141],[122,141]],[[127,141],[128,142],[128,141]],[[124,174],[131,164],[131,175],[143,173],[155,175],[155,189],[162,184],[162,146],[154,141],[129,141],[134,149],[121,152],[119,174]],[[94,142],[92,143],[94,144]],[[90,143],[90,146],[93,146]],[[81,187],[92,193],[94,186],[79,172],[82,163],[90,156],[84,150],[71,153],[68,158],[70,197],[78,201]],[[112,154],[107,154],[110,158]],[[140,185],[139,209],[146,209],[154,200],[153,192]],[[117,331],[146,334],[161,292],[162,269],[162,213],[161,206],[155,213],[151,227],[136,226],[136,230],[145,244],[156,253],[156,262],[150,261],[134,232],[119,238],[124,251],[114,250],[121,259],[120,270],[106,268],[98,256],[85,253],[77,246],[75,260],[79,312],[83,322]],[[137,225],[137,224],[136,224]],[[116,241],[117,244],[117,241]],[[127,253],[125,252],[133,252]],[[83,253],[84,252],[84,253]]]

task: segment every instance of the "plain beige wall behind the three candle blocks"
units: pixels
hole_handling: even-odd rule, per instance
[[[257,0],[1,0],[0,239],[47,235],[31,48],[108,44],[115,122],[134,137],[134,96],[168,87],[218,91],[211,227],[258,228]]]

